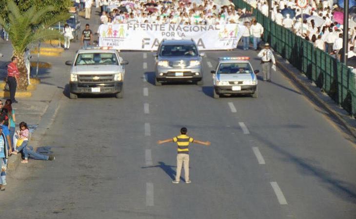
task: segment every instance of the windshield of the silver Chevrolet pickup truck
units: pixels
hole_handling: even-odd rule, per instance
[[[75,65],[117,65],[114,53],[83,53],[79,54]]]

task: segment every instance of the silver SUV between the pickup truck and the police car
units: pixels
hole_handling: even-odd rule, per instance
[[[163,40],[156,58],[156,86],[162,82],[191,81],[203,85],[202,58],[193,40]]]

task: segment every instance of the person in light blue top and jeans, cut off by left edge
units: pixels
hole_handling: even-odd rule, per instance
[[[6,169],[7,160],[9,158],[9,145],[5,134],[2,132],[2,126],[0,126],[0,190],[5,190],[6,185]]]

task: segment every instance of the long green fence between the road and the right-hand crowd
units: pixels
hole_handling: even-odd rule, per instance
[[[234,0],[237,8],[251,9],[243,0]],[[298,70],[305,73],[316,86],[322,88],[342,108],[356,114],[356,90],[354,73],[313,44],[298,37],[292,31],[277,25],[257,9],[253,14],[264,27],[263,40]]]

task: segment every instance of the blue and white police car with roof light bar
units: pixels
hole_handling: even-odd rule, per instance
[[[214,79],[214,98],[220,95],[251,94],[257,98],[257,73],[249,61],[250,57],[220,57]]]

